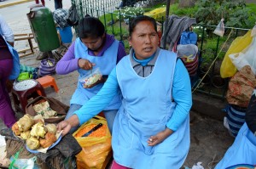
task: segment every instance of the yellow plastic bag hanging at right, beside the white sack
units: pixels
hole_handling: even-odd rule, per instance
[[[232,64],[229,55],[241,52],[243,49],[252,42],[253,37],[251,37],[252,30],[247,31],[243,37],[236,37],[236,39],[231,43],[230,48],[224,56],[222,64],[220,66],[220,75],[222,78],[234,76],[236,73],[236,66]]]

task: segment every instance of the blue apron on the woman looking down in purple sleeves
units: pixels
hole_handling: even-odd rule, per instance
[[[93,69],[99,67],[102,75],[109,75],[111,70],[116,65],[117,62],[117,54],[119,48],[119,41],[114,41],[112,45],[104,52],[102,56],[90,56],[88,54],[88,48],[84,45],[83,42],[80,41],[79,38],[76,39],[74,53],[75,58],[88,59],[91,63],[95,63],[96,65]],[[86,75],[90,70],[79,69],[79,78]],[[70,104],[80,104],[84,105],[90,98],[92,98],[96,93],[98,93],[103,86],[103,83],[96,85],[92,88],[84,88],[81,82],[78,81],[78,87],[76,91],[73,93],[72,99],[70,100]],[[118,110],[121,104],[120,95],[117,94],[108,107],[104,110]]]

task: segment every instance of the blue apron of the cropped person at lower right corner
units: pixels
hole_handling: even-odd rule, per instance
[[[215,169],[224,169],[237,164],[256,164],[256,136],[245,122],[236,136],[234,144],[230,146],[224,158],[218,162]]]

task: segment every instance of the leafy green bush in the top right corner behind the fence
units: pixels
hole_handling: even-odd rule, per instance
[[[198,11],[195,17],[200,24],[218,25],[219,20],[224,18],[225,26],[251,28],[255,14],[247,8],[245,2],[234,0],[199,0],[196,3]],[[254,20],[255,21],[255,20]]]

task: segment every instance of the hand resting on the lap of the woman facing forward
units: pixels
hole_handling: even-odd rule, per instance
[[[162,132],[158,132],[156,135],[148,138],[148,146],[154,146],[156,144],[160,144],[166,138],[168,138],[172,133],[173,133],[173,131],[170,128],[166,127],[166,130],[164,130]]]

